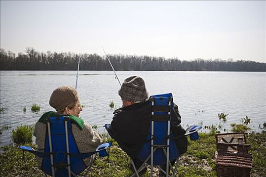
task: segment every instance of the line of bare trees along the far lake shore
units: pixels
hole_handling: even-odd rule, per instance
[[[25,54],[16,56],[11,51],[1,49],[1,70],[111,70],[105,57],[97,54],[74,54],[56,52],[37,52],[26,48]],[[182,61],[177,58],[108,55],[115,70],[136,71],[266,71],[266,63],[254,61],[225,61],[220,59]]]

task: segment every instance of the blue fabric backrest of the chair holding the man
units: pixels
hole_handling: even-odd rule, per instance
[[[149,98],[151,106],[151,124],[147,142],[138,154],[141,161],[145,161],[153,147],[158,148],[151,160],[147,163],[153,165],[164,165],[167,163],[167,155],[164,149],[169,147],[169,160],[173,161],[179,157],[178,149],[174,142],[174,136],[171,132],[171,111],[173,110],[172,94],[154,95]],[[151,162],[153,161],[153,162]]]

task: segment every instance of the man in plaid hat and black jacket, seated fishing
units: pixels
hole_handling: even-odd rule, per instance
[[[146,142],[151,115],[145,82],[139,76],[128,77],[124,80],[118,93],[123,107],[113,112],[114,116],[107,131],[111,138],[118,142],[122,150],[133,159],[136,168],[139,168],[142,162],[137,155]],[[178,107],[174,105],[171,129],[175,137],[185,134],[180,123]],[[186,152],[186,137],[177,138],[175,142],[180,154]]]

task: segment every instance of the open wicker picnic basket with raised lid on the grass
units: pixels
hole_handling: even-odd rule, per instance
[[[215,154],[217,176],[250,176],[252,155],[248,153],[250,145],[246,144],[244,132],[217,134],[215,138],[217,146]],[[226,138],[230,141],[228,142]]]

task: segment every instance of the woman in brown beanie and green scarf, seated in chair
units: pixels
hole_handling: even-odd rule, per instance
[[[95,149],[102,143],[102,136],[94,131],[90,124],[84,123],[83,119],[79,118],[82,111],[77,90],[71,86],[60,86],[52,93],[49,101],[50,106],[55,108],[56,112],[49,111],[42,115],[42,117],[35,124],[33,135],[36,137],[36,144],[38,150],[44,152],[46,123],[47,117],[58,117],[68,115],[75,142],[79,148],[80,153],[87,153],[95,151]],[[85,164],[91,164],[94,157],[84,159]],[[42,165],[42,158],[37,158],[39,167]]]

